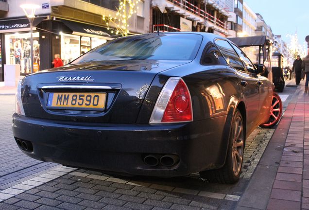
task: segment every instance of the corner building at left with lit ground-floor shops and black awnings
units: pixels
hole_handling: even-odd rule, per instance
[[[115,38],[110,30],[115,25],[107,25],[103,16],[116,17],[119,0],[0,0],[0,81],[4,64],[20,64],[21,75],[30,73],[30,25],[22,3],[40,6],[33,28],[34,71],[51,68],[54,54],[67,64]],[[131,34],[151,31],[149,8],[150,0],[138,2],[128,22]]]

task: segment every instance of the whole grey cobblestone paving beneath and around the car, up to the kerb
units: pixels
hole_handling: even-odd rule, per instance
[[[27,157],[12,136],[13,112],[14,97],[0,95],[0,210],[232,210],[274,133],[257,128],[247,139],[243,173],[235,185],[208,183],[198,174],[120,177]]]

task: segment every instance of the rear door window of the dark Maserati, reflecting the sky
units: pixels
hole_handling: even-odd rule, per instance
[[[223,54],[223,56],[225,57],[225,60],[228,63],[228,65],[237,70],[246,71],[245,68],[243,67],[240,57],[227,41],[219,39],[216,40],[216,44],[220,49],[221,53]]]

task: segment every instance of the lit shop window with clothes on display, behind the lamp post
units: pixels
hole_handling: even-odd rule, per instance
[[[39,70],[39,33],[33,33],[34,72]],[[20,73],[31,72],[31,43],[30,33],[5,35],[6,64],[19,64]]]

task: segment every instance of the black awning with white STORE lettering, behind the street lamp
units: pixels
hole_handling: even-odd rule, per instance
[[[45,17],[34,18],[33,30]],[[30,23],[28,18],[0,20],[0,33],[30,31]]]

